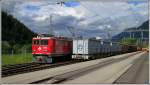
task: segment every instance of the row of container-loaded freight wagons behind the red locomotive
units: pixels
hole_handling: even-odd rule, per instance
[[[123,45],[97,39],[76,39],[73,40],[72,59],[89,60],[134,51],[137,51],[137,46]]]

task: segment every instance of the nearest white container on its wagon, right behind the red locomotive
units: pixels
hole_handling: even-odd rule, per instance
[[[89,59],[93,54],[100,53],[100,40],[96,39],[77,39],[73,40],[73,55],[72,58]]]

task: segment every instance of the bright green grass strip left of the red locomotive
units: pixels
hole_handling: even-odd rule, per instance
[[[12,65],[32,62],[32,54],[2,54],[2,65]]]

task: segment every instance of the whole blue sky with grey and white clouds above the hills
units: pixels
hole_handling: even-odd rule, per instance
[[[2,10],[12,14],[37,33],[107,38],[148,20],[147,0],[78,0],[57,4],[60,0],[3,0]],[[51,24],[50,24],[51,22]],[[71,28],[70,28],[71,27]]]

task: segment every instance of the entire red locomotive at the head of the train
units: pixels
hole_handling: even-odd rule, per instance
[[[33,62],[52,63],[55,59],[71,58],[72,40],[64,37],[32,39]]]

